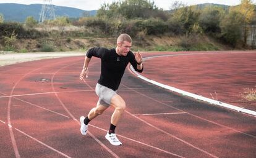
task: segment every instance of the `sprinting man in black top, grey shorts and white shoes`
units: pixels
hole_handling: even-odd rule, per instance
[[[126,102],[117,94],[117,89],[128,63],[140,73],[143,71],[143,65],[140,53],[130,51],[132,39],[128,34],[121,34],[117,38],[116,44],[116,49],[109,50],[101,47],[89,49],[85,56],[80,79],[88,77],[88,65],[92,57],[101,58],[101,74],[95,88],[99,97],[98,103],[95,108],[90,110],[87,117],[80,117],[80,132],[82,135],[86,135],[90,120],[102,114],[111,105],[114,108],[114,113],[111,116],[111,124],[105,138],[114,146],[119,146],[122,143],[117,139],[114,130],[126,109]]]

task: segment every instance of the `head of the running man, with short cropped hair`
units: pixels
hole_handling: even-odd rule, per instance
[[[116,41],[118,55],[126,56],[132,47],[132,38],[128,34],[120,34]]]

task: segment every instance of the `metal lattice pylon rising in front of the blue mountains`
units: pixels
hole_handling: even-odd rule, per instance
[[[43,23],[45,20],[54,20],[56,18],[51,0],[43,0],[43,2],[39,23]]]

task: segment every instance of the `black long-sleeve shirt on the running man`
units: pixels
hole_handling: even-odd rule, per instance
[[[137,61],[135,60],[134,53],[129,51],[127,56],[121,56],[116,53],[116,49],[105,49],[101,47],[94,47],[89,49],[87,57],[101,58],[101,74],[98,83],[104,85],[112,90],[117,90],[126,66],[130,64],[134,67],[135,71],[142,73],[142,69],[137,69]]]

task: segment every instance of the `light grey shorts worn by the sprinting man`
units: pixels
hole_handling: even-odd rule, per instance
[[[96,84],[95,92],[99,97],[97,105],[104,105],[107,107],[111,105],[111,99],[116,95],[116,91],[101,84]]]

